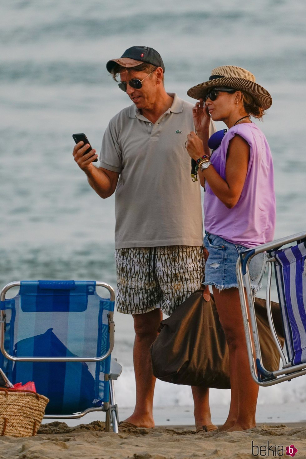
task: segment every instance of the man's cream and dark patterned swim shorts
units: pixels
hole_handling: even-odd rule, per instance
[[[161,246],[116,250],[117,311],[170,315],[204,280],[202,247]]]

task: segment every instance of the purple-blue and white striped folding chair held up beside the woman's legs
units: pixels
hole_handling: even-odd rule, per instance
[[[288,246],[288,244],[295,243]],[[249,263],[257,253],[267,260],[267,316],[278,348],[280,368],[267,371],[262,364],[254,301],[250,285]],[[284,329],[285,346],[280,345],[271,313],[271,283],[275,276]],[[306,232],[278,239],[240,254],[236,265],[241,310],[244,320],[250,370],[254,381],[272,386],[306,374]],[[245,287],[245,288],[244,288]]]

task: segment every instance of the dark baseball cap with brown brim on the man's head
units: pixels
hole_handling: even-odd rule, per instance
[[[162,62],[161,55],[148,46],[132,46],[124,51],[119,59],[111,59],[106,64],[106,68],[109,73],[111,73],[112,68],[119,64],[122,67],[137,67],[143,62],[148,64],[155,65],[156,67],[161,67],[165,72],[165,66]]]

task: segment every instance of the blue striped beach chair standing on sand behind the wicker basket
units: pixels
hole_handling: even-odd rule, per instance
[[[98,295],[104,287],[110,299]],[[7,298],[12,287],[19,287]],[[50,399],[45,418],[80,418],[106,412],[106,431],[118,432],[111,359],[114,300],[95,281],[36,280],[6,285],[0,296],[0,367],[13,383],[34,381]]]

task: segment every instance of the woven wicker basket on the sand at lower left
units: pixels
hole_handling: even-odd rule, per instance
[[[0,388],[0,435],[36,435],[49,399],[36,392]]]

